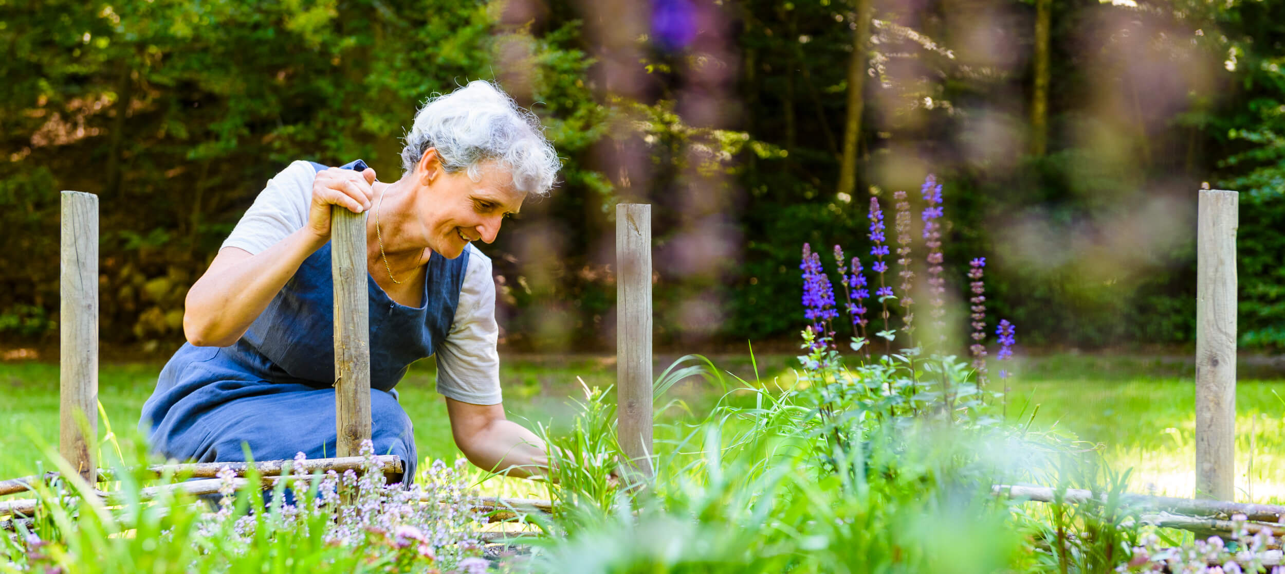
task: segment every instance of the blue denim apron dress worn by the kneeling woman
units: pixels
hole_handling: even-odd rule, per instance
[[[314,163],[317,171],[325,169]],[[365,170],[361,160],[342,166]],[[410,363],[433,355],[451,331],[469,251],[433,252],[421,306],[401,305],[366,275],[370,301],[370,418],[377,454],[396,454],[415,476],[410,417],[393,387]],[[310,255],[231,346],[184,344],[143,405],[139,430],[154,452],[180,461],[242,462],[335,456],[334,284],[330,243]]]

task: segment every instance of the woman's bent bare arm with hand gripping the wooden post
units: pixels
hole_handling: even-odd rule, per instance
[[[251,254],[224,247],[209,269],[188,291],[182,332],[195,346],[235,344],[303,260],[330,241],[330,206],[360,214],[374,198],[375,170],[357,172],[332,167],[316,174],[308,220],[269,248]]]

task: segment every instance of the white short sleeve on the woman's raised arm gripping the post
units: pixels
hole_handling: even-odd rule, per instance
[[[272,176],[222,247],[239,247],[257,255],[303,228],[315,179],[316,169],[306,161],[296,161]]]

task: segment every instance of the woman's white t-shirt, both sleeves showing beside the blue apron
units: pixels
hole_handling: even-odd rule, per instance
[[[267,181],[222,247],[253,255],[302,229],[308,220],[315,179],[316,169],[306,161],[296,161],[281,170]],[[466,248],[469,266],[464,272],[451,332],[445,341],[437,341],[437,391],[464,403],[499,404],[502,400],[496,351],[500,327],[495,322],[491,259],[473,243]]]

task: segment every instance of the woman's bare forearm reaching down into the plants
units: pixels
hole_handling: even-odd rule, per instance
[[[509,476],[549,472],[545,441],[504,416],[504,404],[472,404],[446,398],[455,445],[478,467]]]

